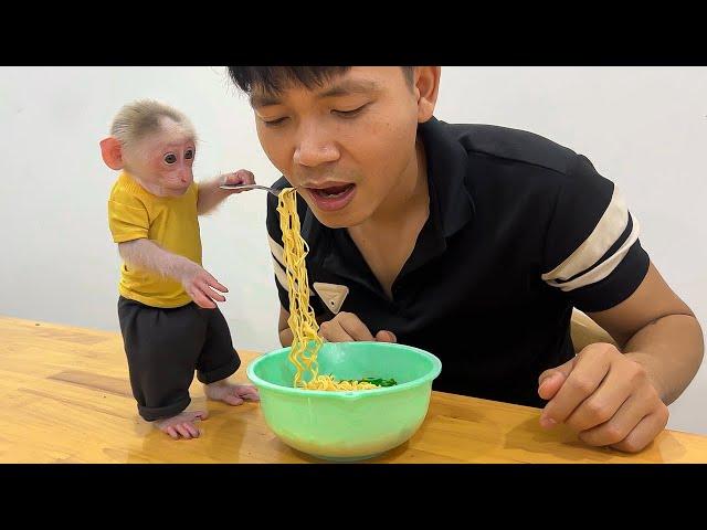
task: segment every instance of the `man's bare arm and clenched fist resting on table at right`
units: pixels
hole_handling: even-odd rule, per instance
[[[566,423],[589,445],[641,451],[665,428],[667,404],[697,373],[701,329],[653,264],[629,298],[589,315],[620,349],[589,344],[542,372],[538,393],[549,401],[540,425]]]

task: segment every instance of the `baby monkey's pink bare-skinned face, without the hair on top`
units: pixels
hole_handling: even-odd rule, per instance
[[[182,195],[194,181],[197,145],[188,131],[172,128],[155,134],[143,140],[136,151],[126,160],[126,168],[158,188],[160,195]]]

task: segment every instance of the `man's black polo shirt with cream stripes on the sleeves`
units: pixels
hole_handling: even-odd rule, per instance
[[[434,390],[544,406],[538,375],[573,356],[572,307],[609,309],[645,277],[639,223],[585,157],[538,135],[435,118],[418,134],[430,216],[392,300],[348,231],[297,201],[312,307],[325,320],[354,312],[373,335],[388,329],[437,356]],[[276,206],[268,194],[275,284],[288,309]]]

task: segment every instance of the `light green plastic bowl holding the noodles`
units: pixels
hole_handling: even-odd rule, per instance
[[[318,391],[293,388],[289,348],[247,367],[268,427],[287,445],[327,460],[361,460],[407,442],[424,421],[432,381],[442,363],[432,353],[389,342],[325,342],[320,374],[336,379],[393,378],[373,390]]]

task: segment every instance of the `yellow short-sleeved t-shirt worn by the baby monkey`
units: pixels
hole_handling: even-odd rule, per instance
[[[198,195],[199,188],[192,183],[181,197],[157,197],[123,171],[108,199],[113,241],[123,243],[147,237],[166,251],[201,265]],[[126,298],[154,307],[180,307],[191,301],[179,282],[125,263],[118,290]]]

